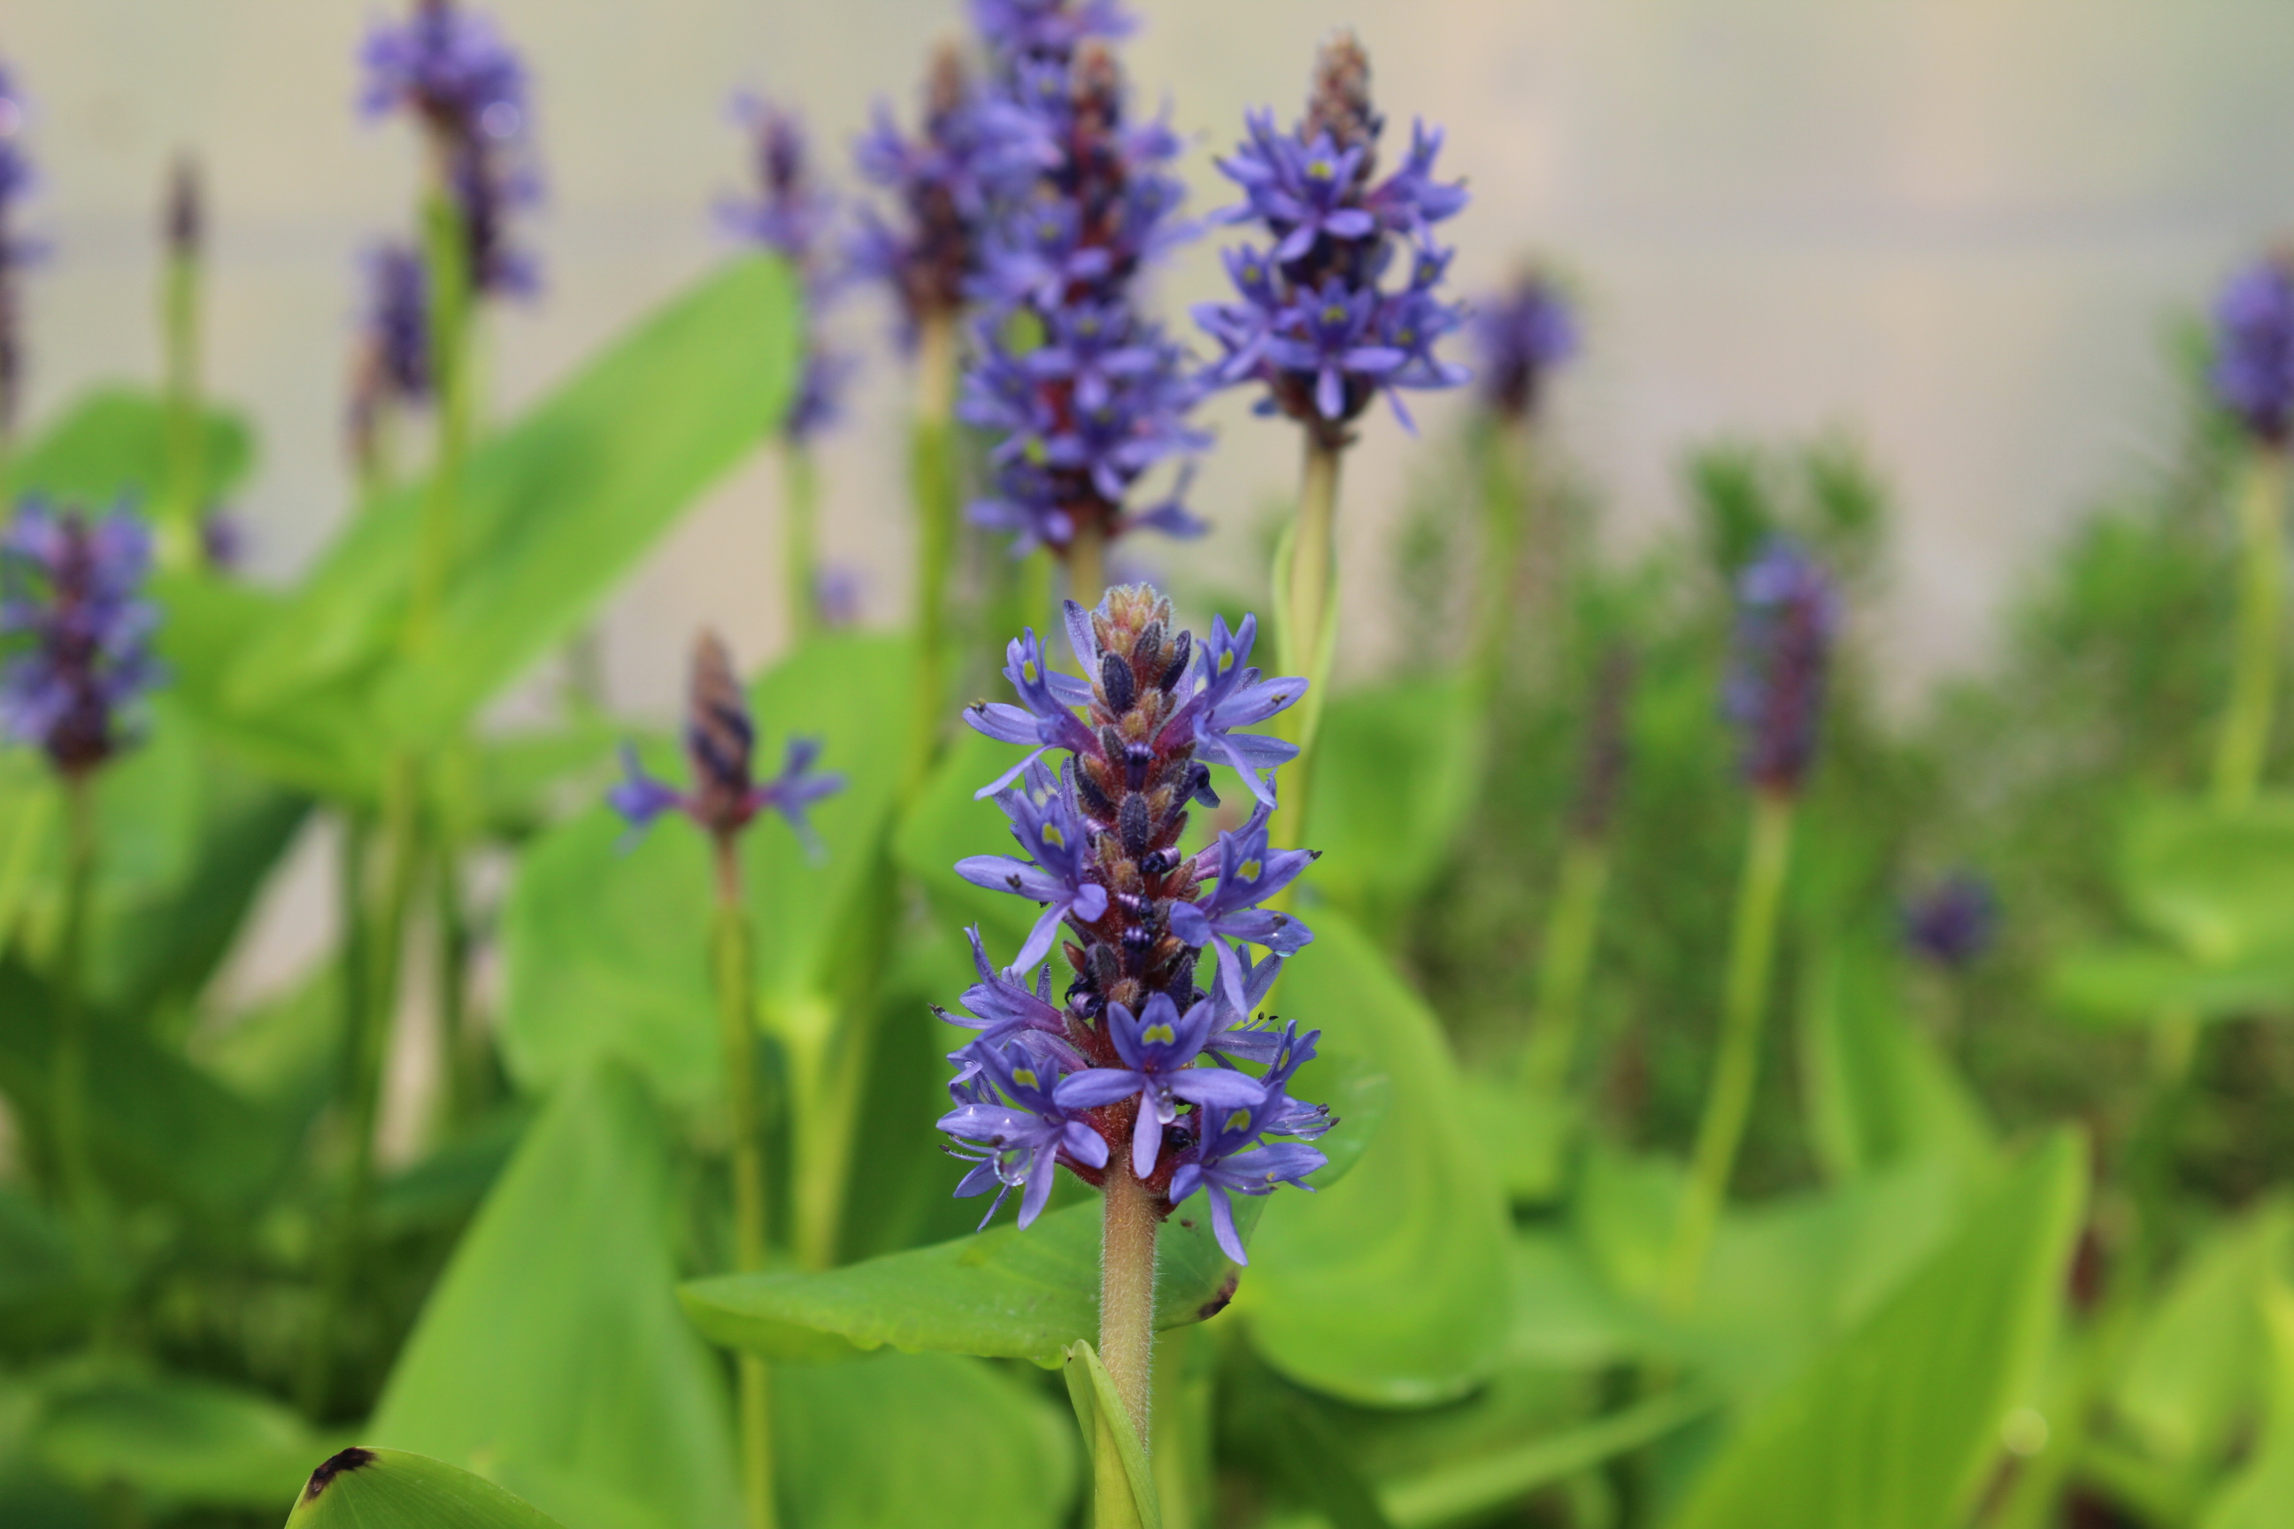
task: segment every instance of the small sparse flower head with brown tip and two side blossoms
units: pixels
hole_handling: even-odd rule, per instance
[[[702,633],[693,646],[693,688],[686,715],[686,759],[693,786],[677,791],[645,773],[638,752],[622,745],[626,777],[606,793],[633,830],[645,830],[663,811],[681,811],[711,837],[729,841],[759,811],[787,818],[805,850],[824,855],[805,809],[844,789],[842,775],[824,775],[812,766],[821,754],[819,738],[791,738],[780,775],[757,782],[752,752],[757,724],[748,715],[748,697],[732,672],[732,653],[716,633]]]

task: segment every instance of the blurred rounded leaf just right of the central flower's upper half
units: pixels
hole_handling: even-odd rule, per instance
[[[1477,729],[1464,676],[1331,697],[1312,782],[1312,883],[1376,926],[1418,901],[1473,805]]]

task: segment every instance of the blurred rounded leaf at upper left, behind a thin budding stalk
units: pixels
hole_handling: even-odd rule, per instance
[[[200,504],[213,504],[236,488],[255,461],[248,422],[211,408],[202,422],[206,484]],[[167,403],[142,387],[110,383],[83,392],[21,452],[9,456],[7,484],[14,495],[44,493],[80,504],[119,497],[149,507],[167,488]]]

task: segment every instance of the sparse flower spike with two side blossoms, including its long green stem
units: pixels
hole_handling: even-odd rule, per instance
[[[732,653],[716,633],[693,646],[693,690],[686,715],[686,756],[693,786],[677,791],[624,754],[629,779],[608,795],[631,828],[642,830],[663,811],[688,816],[709,834],[716,864],[716,915],[711,924],[711,970],[718,995],[718,1036],[725,1045],[725,1109],[732,1130],[732,1224],[734,1265],[743,1272],[766,1263],[766,1165],[764,1112],[757,1098],[757,983],[750,965],[748,915],[741,899],[741,834],[759,811],[778,811],[807,844],[805,809],[837,791],[842,779],[819,775],[812,761],[819,743],[791,740],[778,779],[752,775],[757,727],[732,669]],[[773,1426],[771,1375],[764,1359],[741,1355],[741,1479],[748,1529],[773,1529]]]

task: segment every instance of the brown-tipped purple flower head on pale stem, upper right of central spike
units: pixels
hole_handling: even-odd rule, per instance
[[[1434,346],[1464,323],[1438,291],[1454,250],[1434,225],[1466,206],[1466,188],[1434,179],[1441,131],[1413,124],[1411,149],[1376,181],[1386,121],[1370,103],[1370,60],[1353,37],[1321,50],[1308,112],[1292,133],[1273,112],[1248,117],[1248,140],[1218,163],[1243,188],[1225,222],[1255,222],[1266,248],[1225,252],[1236,303],[1195,309],[1220,344],[1209,381],[1264,383],[1259,413],[1282,413],[1324,447],[1386,394],[1411,426],[1399,390],[1457,387],[1466,367]],[[1399,282],[1388,287],[1399,259]]]

